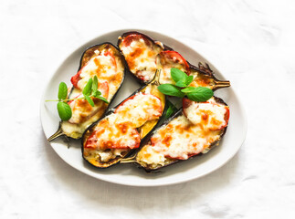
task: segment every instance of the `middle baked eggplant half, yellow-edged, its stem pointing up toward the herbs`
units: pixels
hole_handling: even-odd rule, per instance
[[[120,162],[157,125],[165,108],[165,96],[157,89],[159,73],[90,126],[82,137],[82,156],[98,168]]]

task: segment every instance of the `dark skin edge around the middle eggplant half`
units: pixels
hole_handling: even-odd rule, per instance
[[[146,89],[150,84],[147,84],[147,85],[144,85],[142,88],[140,89],[137,89],[135,90],[128,98],[126,99],[129,99],[131,98],[132,96],[136,95],[137,93],[141,92],[142,90]],[[149,133],[153,132],[153,130],[157,127],[157,124],[158,122],[163,118],[164,114],[165,114],[165,111],[167,110],[167,104],[165,104],[166,102],[166,99],[165,99],[165,96],[163,95],[164,97],[164,109],[163,109],[163,113],[162,113],[162,116],[157,120],[157,122],[155,123],[155,125],[153,126],[153,129],[149,131]],[[124,102],[126,99],[122,100],[122,102]],[[113,109],[111,110],[108,110],[107,113],[102,117],[100,118],[100,120],[103,120],[105,117],[111,115],[120,105],[121,103],[119,103],[117,106],[115,106]],[[123,158],[126,158],[128,157],[129,155],[131,155],[134,151],[136,151],[137,149],[132,149],[132,150],[127,150],[125,152],[122,153],[122,156],[117,156],[116,158],[112,159],[111,161],[109,162],[101,162],[101,161],[97,161],[96,160],[96,163],[92,163],[90,162],[87,157],[85,156],[85,154],[87,153],[87,151],[84,149],[84,145],[86,143],[86,141],[89,139],[91,133],[93,132],[93,130],[95,129],[95,126],[100,122],[100,120],[97,120],[96,122],[94,122],[93,124],[90,125],[90,127],[85,130],[85,132],[83,133],[83,136],[82,136],[82,145],[81,145],[81,151],[82,151],[82,157],[84,159],[85,162],[89,163],[91,166],[94,166],[98,169],[105,169],[105,168],[109,168],[115,164],[118,164],[121,162],[121,160]],[[147,134],[148,135],[148,134]],[[143,138],[145,139],[145,138]],[[142,140],[143,140],[142,139]]]

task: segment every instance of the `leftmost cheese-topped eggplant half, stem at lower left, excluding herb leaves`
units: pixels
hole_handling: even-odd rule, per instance
[[[48,141],[63,135],[80,139],[90,124],[99,120],[108,109],[109,104],[94,97],[91,98],[94,107],[86,99],[76,99],[83,97],[82,90],[90,78],[97,76],[101,96],[111,103],[121,88],[124,75],[124,58],[117,47],[111,43],[103,43],[87,48],[80,59],[78,73],[70,79],[73,87],[68,93],[68,99],[75,98],[68,101],[72,117],[68,121],[61,121],[58,131]]]

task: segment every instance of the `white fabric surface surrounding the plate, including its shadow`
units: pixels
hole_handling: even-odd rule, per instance
[[[0,218],[294,218],[294,1],[0,2]],[[105,183],[47,143],[39,99],[68,53],[121,28],[180,39],[210,60],[248,113],[248,136],[201,179]]]

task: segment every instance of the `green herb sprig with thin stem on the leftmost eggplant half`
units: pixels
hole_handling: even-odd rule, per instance
[[[98,90],[99,81],[97,76],[94,78],[90,78],[87,82],[86,86],[82,90],[83,98],[77,99],[86,99],[91,107],[94,107],[94,102],[91,97],[101,99],[102,101],[109,103],[107,99],[101,96],[100,90]],[[72,110],[68,105],[69,100],[75,99],[67,99],[68,98],[68,87],[65,82],[60,82],[58,86],[58,99],[48,99],[46,101],[58,101],[58,116],[61,120],[69,120],[72,116]]]

